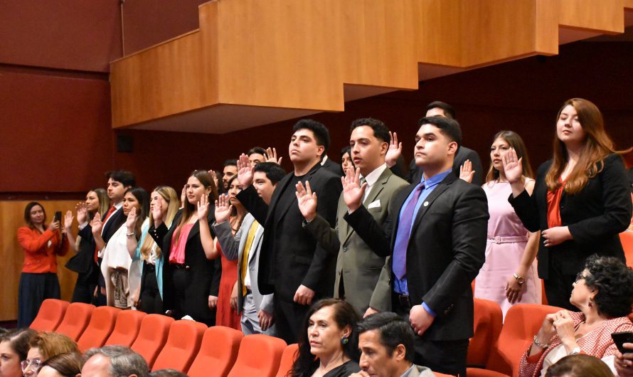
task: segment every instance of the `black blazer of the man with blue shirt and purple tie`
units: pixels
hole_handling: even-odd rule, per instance
[[[345,216],[374,252],[393,255],[400,208],[416,185],[394,196],[394,211],[382,229],[365,207]],[[471,282],[484,265],[488,218],[484,190],[454,174],[435,186],[420,207],[407,249],[407,280],[410,301],[414,305],[425,302],[437,314],[423,339],[448,341],[472,336]]]

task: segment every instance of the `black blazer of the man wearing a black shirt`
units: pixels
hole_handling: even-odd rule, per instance
[[[330,226],[336,221],[336,202],[343,186],[341,177],[316,164],[310,169],[303,181],[309,181],[310,187],[319,195],[317,213],[325,218]],[[294,293],[299,285],[304,285],[316,292],[315,298],[331,297],[334,286],[334,267],[336,258],[317,244],[317,240],[304,229],[304,220],[297,198],[287,207],[277,206],[280,193],[290,190],[293,195],[295,188],[290,187],[294,182],[294,172],[287,174],[280,181],[275,192],[272,193],[270,206],[257,195],[252,186],[238,193],[240,203],[255,217],[260,224],[264,224],[264,236],[260,249],[260,270],[257,283],[262,294],[275,293],[276,300],[292,302]],[[282,228],[275,223],[277,217],[287,217],[283,223],[291,224],[291,228]]]

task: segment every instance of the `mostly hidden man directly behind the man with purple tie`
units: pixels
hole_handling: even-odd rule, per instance
[[[446,102],[433,101],[427,105],[425,117],[445,117],[454,120],[455,110]],[[396,152],[398,151],[397,136],[395,136],[394,139],[395,143],[394,140],[392,140],[390,144],[390,153],[387,155],[387,166],[390,167],[393,174],[403,177],[410,184],[413,184],[413,182],[419,182],[422,178],[423,171],[415,164],[415,159],[411,160],[409,164],[409,173],[406,176],[402,173],[402,171],[400,171],[398,164],[396,164],[396,161],[400,158],[400,152]],[[400,147],[400,151],[401,150],[402,148]],[[484,184],[484,167],[482,166],[482,159],[480,159],[479,154],[474,152],[472,149],[463,146],[459,147],[459,151],[457,151],[457,154],[455,154],[453,159],[453,173],[459,177],[459,170],[466,160],[469,160],[472,164],[474,176],[471,182],[477,186],[482,186],[482,184]]]

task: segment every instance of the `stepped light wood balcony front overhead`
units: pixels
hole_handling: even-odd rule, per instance
[[[195,113],[201,131],[228,132],[248,125],[223,125],[214,109],[342,111],[344,84],[356,85],[356,97],[363,87],[416,89],[425,66],[558,53],[559,26],[582,30],[580,38],[620,33],[632,1],[210,1],[199,8],[198,30],[112,63],[112,123],[173,117],[164,128]]]

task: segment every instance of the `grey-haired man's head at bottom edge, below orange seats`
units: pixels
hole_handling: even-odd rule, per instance
[[[83,377],[147,377],[149,366],[143,356],[124,346],[92,348],[84,355]]]

